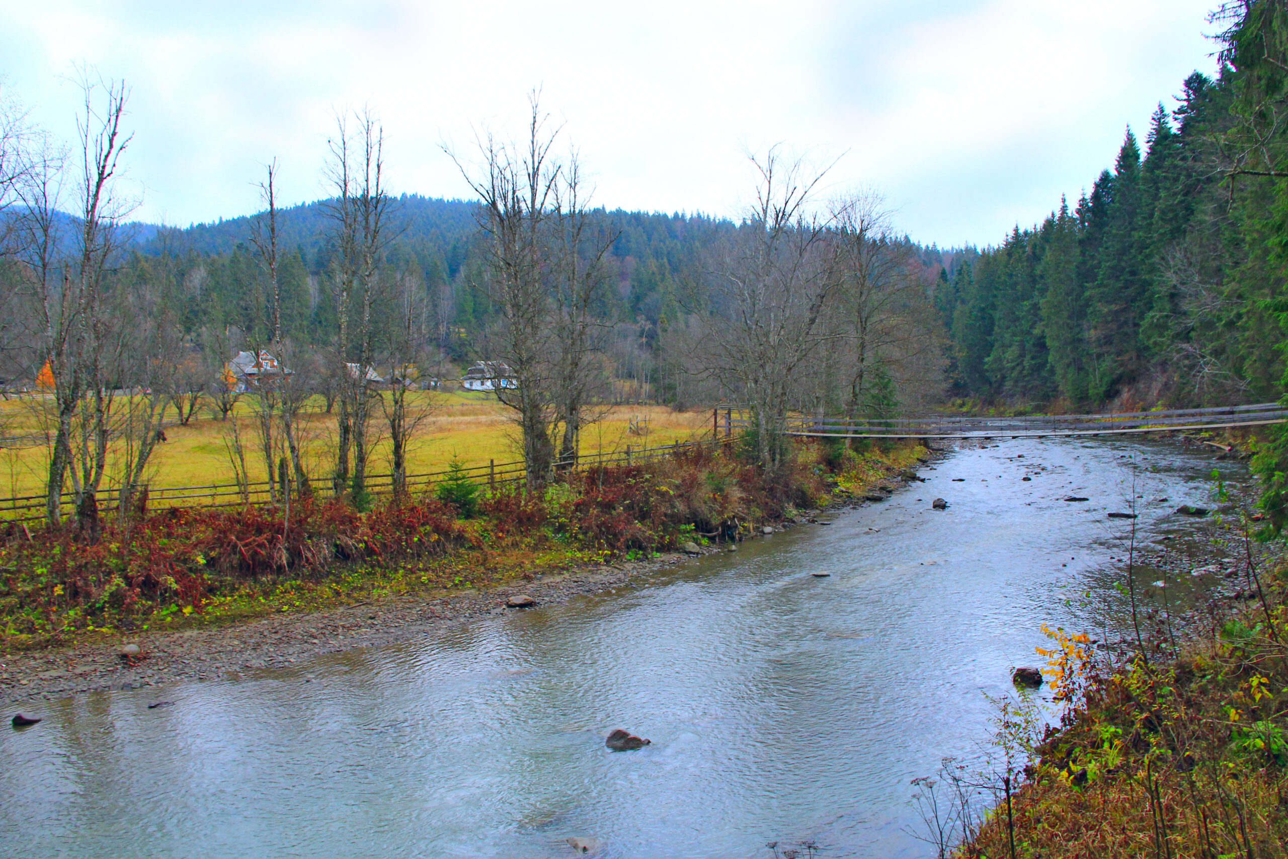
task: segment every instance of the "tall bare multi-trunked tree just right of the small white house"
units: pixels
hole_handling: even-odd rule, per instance
[[[608,326],[596,316],[604,294],[604,256],[613,238],[591,225],[587,189],[576,152],[553,155],[559,127],[528,99],[526,139],[478,139],[482,167],[453,153],[482,203],[487,237],[483,288],[501,321],[488,335],[491,358],[509,367],[510,385],[497,398],[514,410],[523,438],[529,487],[546,483],[558,460],[574,458],[581,430],[598,419],[587,411],[605,381],[599,355]],[[558,442],[558,457],[556,457]]]

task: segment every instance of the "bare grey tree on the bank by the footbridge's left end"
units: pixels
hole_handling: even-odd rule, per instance
[[[756,198],[712,265],[699,355],[701,371],[751,407],[760,464],[774,473],[788,455],[799,376],[826,339],[820,321],[838,283],[827,223],[810,212],[826,170],[811,171],[778,146],[748,157]]]

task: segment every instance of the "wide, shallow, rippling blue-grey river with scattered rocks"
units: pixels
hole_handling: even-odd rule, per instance
[[[828,527],[613,592],[52,702],[0,732],[0,855],[933,855],[909,780],[978,759],[985,694],[1041,665],[1039,623],[1103,637],[1121,617],[1130,523],[1106,513],[1141,496],[1139,538],[1184,540],[1204,525],[1175,510],[1212,506],[1212,467],[1135,440],[956,451]],[[653,744],[612,753],[613,728]]]

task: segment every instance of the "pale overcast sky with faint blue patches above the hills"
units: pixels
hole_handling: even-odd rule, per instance
[[[735,215],[743,152],[841,156],[940,246],[996,243],[1113,162],[1124,127],[1215,68],[1215,0],[0,0],[0,75],[71,138],[77,63],[131,88],[142,220],[323,194],[334,112],[370,104],[397,192],[462,197],[439,149],[515,130],[544,90],[608,207]]]

